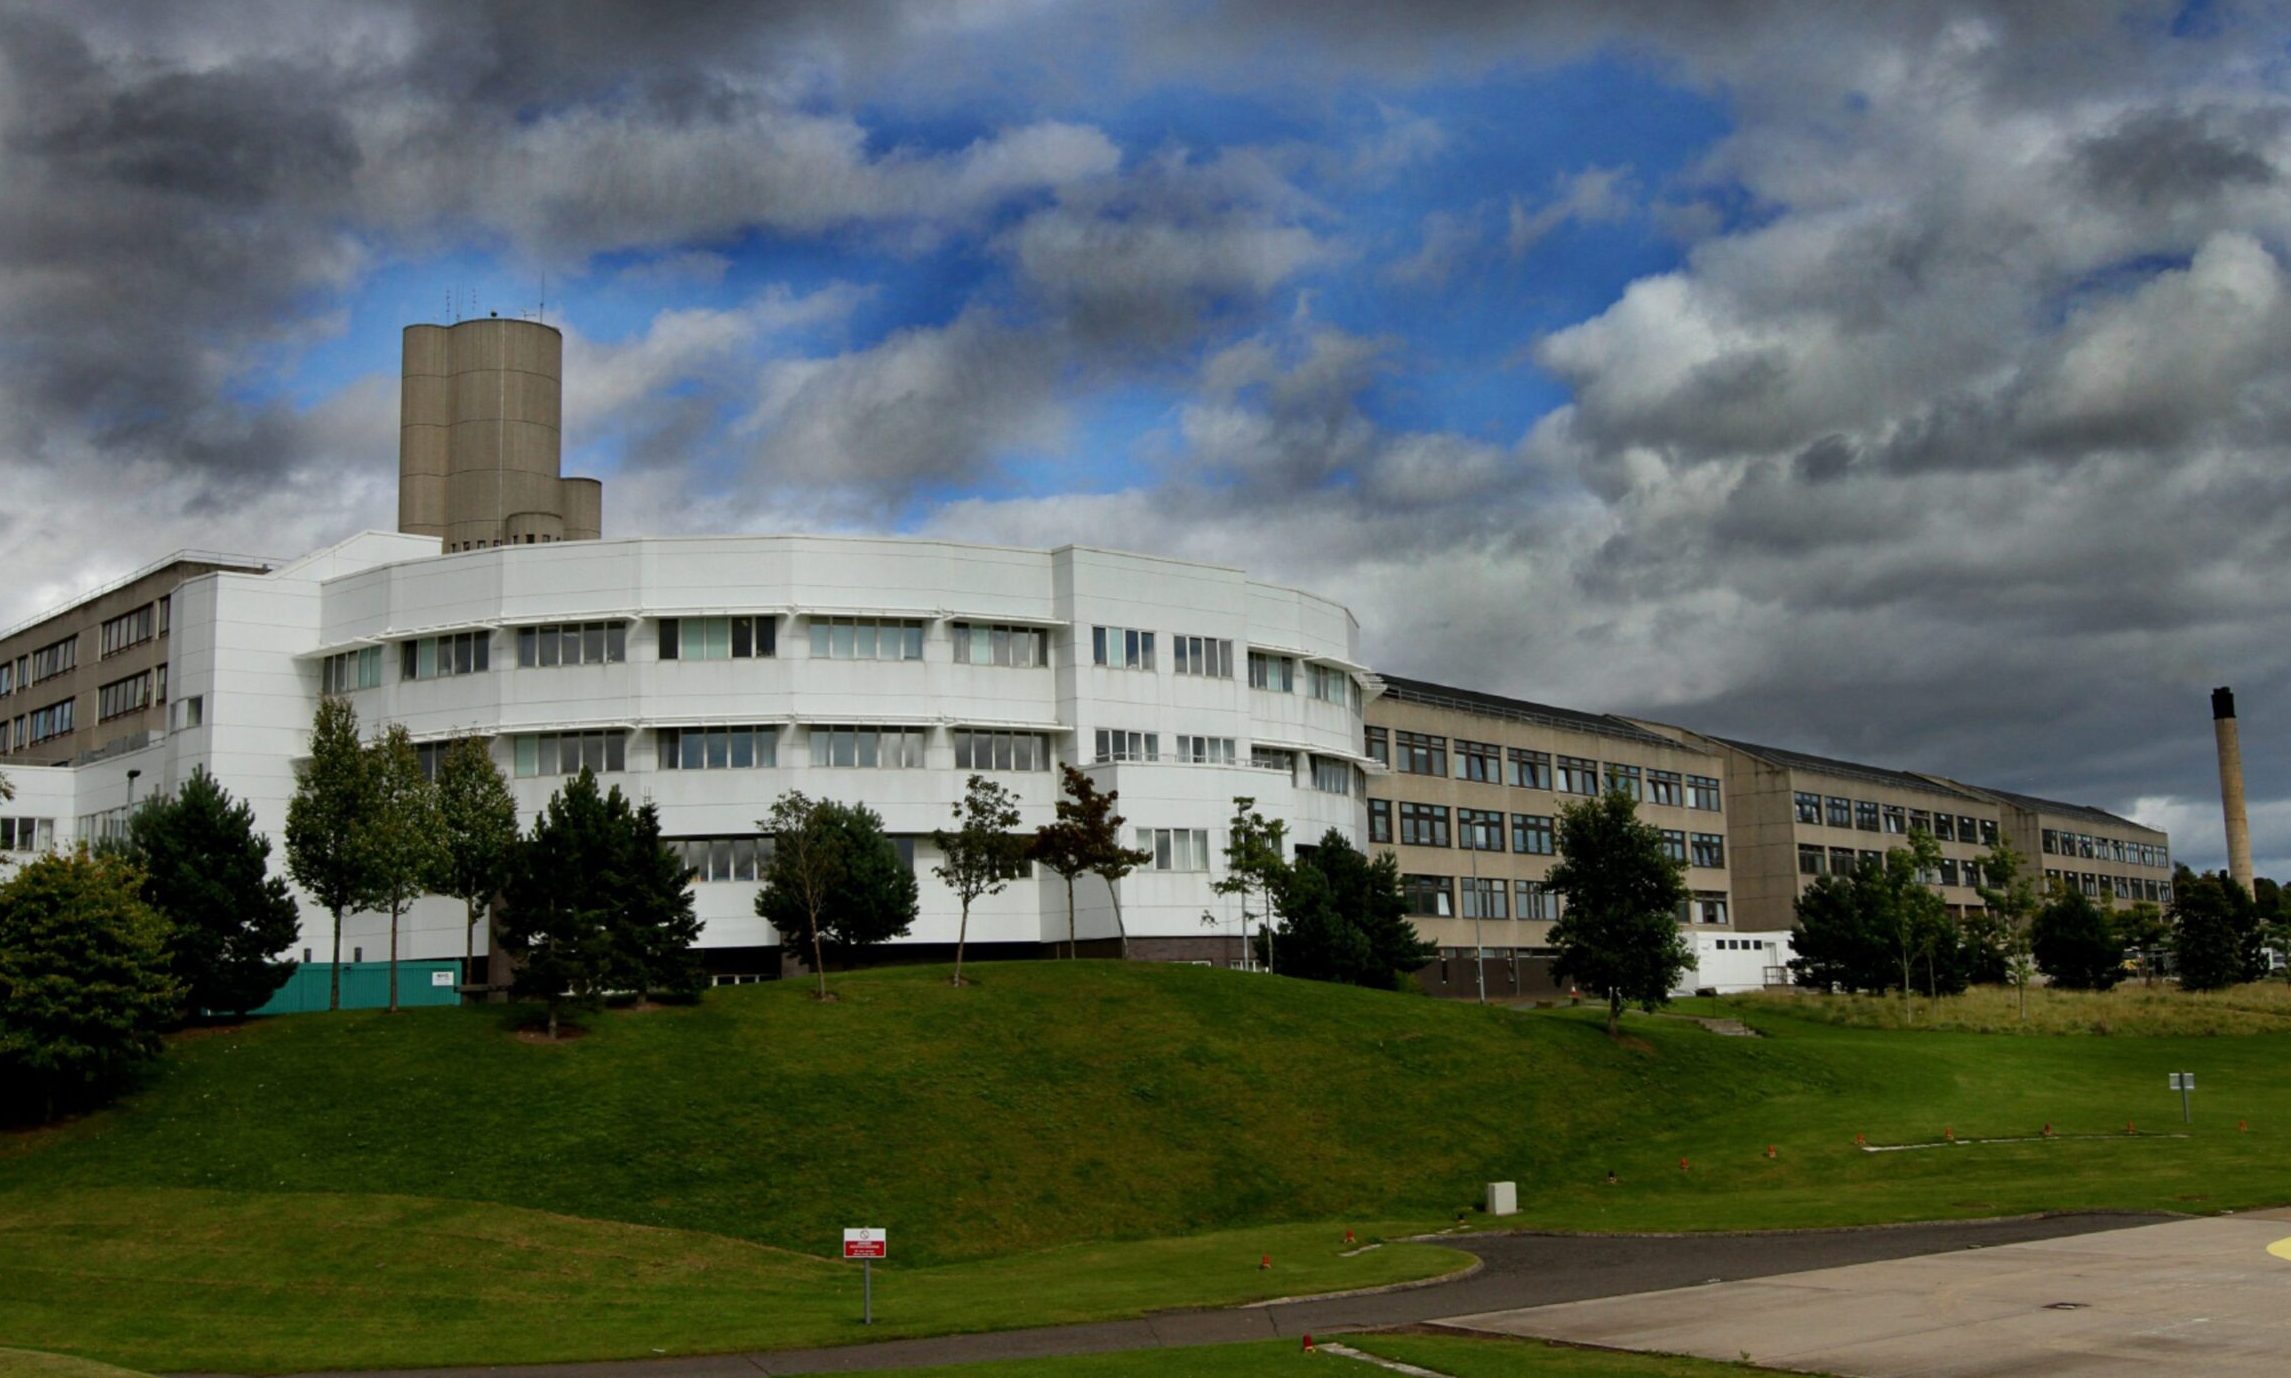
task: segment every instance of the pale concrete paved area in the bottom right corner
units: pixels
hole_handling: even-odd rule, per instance
[[[2273,1252],[2270,1252],[2273,1245]],[[1858,1378],[2291,1371],[2291,1211],[2174,1220],[1441,1325]]]

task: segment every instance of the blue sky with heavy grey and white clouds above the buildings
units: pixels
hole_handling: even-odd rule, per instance
[[[396,520],[566,330],[607,534],[1246,564],[1404,674],[2291,874],[2291,18],[0,0],[0,624]]]

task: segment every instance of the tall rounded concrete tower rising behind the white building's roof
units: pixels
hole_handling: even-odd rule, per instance
[[[399,530],[447,550],[593,541],[605,488],[561,463],[564,335],[538,321],[408,326]]]

